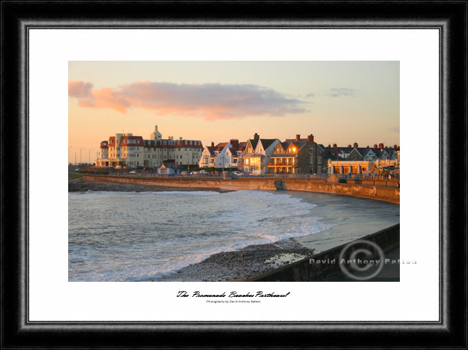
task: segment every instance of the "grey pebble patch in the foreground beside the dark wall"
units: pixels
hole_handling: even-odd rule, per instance
[[[175,274],[155,281],[242,281],[249,276],[263,274],[312,254],[313,249],[302,246],[295,238],[266,245],[249,245],[244,249],[214,254],[201,263],[184,267]]]

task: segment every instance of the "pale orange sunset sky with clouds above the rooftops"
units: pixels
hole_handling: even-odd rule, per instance
[[[399,145],[398,61],[70,61],[70,161],[131,132]],[[91,150],[91,151],[90,151]]]

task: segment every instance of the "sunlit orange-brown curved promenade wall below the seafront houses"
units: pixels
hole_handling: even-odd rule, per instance
[[[209,177],[163,177],[163,176],[108,176],[83,175],[84,181],[102,181],[118,183],[136,183],[142,185],[171,186],[171,187],[208,187],[220,189],[269,189],[275,190],[275,181],[281,183],[282,189],[290,191],[322,192],[344,194],[362,198],[384,200],[400,203],[400,189],[394,187],[356,185],[350,183],[326,183],[323,179],[312,178],[222,178]]]

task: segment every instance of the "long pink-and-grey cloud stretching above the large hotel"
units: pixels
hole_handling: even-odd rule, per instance
[[[140,107],[154,110],[160,115],[187,115],[216,120],[306,112],[301,107],[303,102],[297,99],[248,84],[195,85],[139,81],[119,88],[92,90],[91,83],[71,81],[68,90],[69,96],[76,97],[81,107],[111,108],[120,113]]]

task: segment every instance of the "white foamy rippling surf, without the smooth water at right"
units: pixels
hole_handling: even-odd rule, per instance
[[[74,242],[72,231],[70,280],[156,279],[221,251],[307,236],[334,225],[311,216],[315,204],[261,191],[92,192],[69,198],[69,227],[84,237],[83,243]],[[154,230],[160,236],[151,240]],[[78,260],[85,263],[75,265]]]

